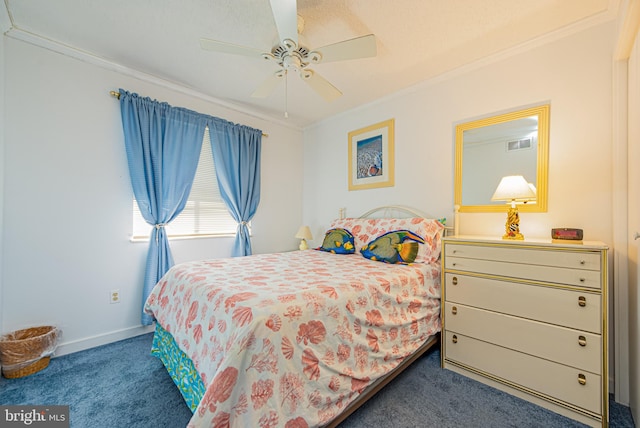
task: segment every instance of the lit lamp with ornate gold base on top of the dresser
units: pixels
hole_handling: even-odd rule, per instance
[[[511,206],[507,212],[507,223],[505,224],[505,234],[502,239],[524,239],[520,233],[520,216],[518,215],[517,203],[527,203],[536,198],[535,187],[529,185],[527,180],[521,175],[510,175],[502,177],[500,184],[491,197],[492,201],[508,201]]]

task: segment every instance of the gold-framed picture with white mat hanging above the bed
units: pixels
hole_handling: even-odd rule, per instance
[[[349,190],[392,187],[394,119],[349,132]]]

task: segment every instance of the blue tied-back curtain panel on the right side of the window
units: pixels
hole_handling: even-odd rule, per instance
[[[220,195],[238,222],[234,257],[251,254],[247,223],[260,202],[262,131],[222,119],[208,123]]]

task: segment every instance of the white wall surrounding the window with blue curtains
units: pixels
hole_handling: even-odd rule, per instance
[[[138,334],[146,243],[131,243],[122,87],[269,134],[263,139],[254,253],[295,249],[302,132],[92,58],[4,37],[2,328],[55,323],[61,353]],[[2,56],[0,56],[2,58]],[[283,166],[286,165],[286,168]],[[230,238],[172,241],[176,262],[231,254]],[[109,304],[109,291],[122,301]]]

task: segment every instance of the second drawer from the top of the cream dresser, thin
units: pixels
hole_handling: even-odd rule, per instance
[[[447,257],[445,259],[445,268],[596,289],[600,288],[601,280],[600,272],[594,270],[466,259],[461,257]]]

